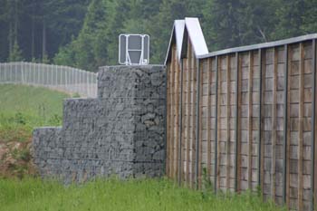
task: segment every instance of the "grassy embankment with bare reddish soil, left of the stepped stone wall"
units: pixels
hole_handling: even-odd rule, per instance
[[[34,174],[30,143],[35,127],[62,124],[62,100],[69,97],[22,85],[0,85],[0,177]]]

